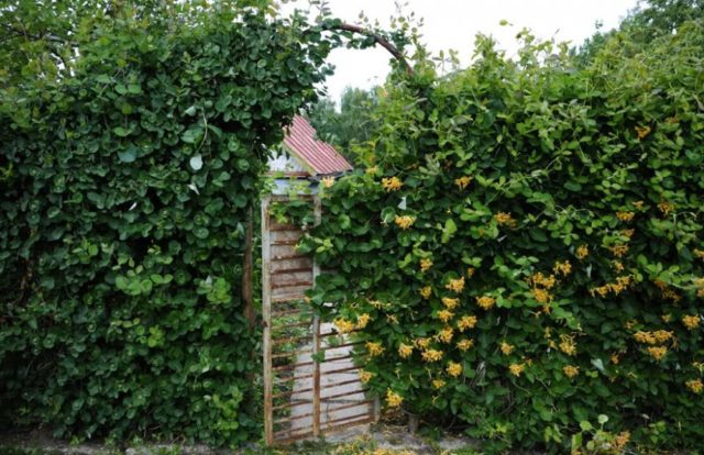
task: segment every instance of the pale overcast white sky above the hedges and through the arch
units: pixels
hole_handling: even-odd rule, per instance
[[[517,48],[516,33],[524,27],[539,38],[579,45],[594,33],[597,21],[603,23],[603,30],[618,25],[637,0],[405,0],[405,3],[406,15],[415,11],[417,18],[424,18],[421,34],[431,52],[455,49],[461,64],[468,65],[476,33],[494,36],[509,56]],[[294,4],[307,8],[305,0]],[[345,22],[356,23],[363,11],[372,21],[378,20],[382,27],[388,27],[396,11],[395,0],[329,0],[328,4],[332,15]],[[285,5],[285,10],[292,8]],[[502,20],[512,25],[501,26]],[[326,84],[329,96],[339,101],[348,86],[371,88],[383,84],[389,57],[381,47],[333,51],[329,62],[336,66],[336,74]]]

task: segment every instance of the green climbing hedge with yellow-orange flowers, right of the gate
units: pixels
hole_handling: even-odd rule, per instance
[[[301,245],[337,270],[311,301],[388,407],[488,447],[701,448],[703,24],[583,68],[519,36],[387,85]]]

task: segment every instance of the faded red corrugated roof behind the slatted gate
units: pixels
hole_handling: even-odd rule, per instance
[[[294,116],[294,123],[286,129],[284,145],[316,175],[352,170],[350,163],[332,145],[316,140],[316,130],[300,115]]]

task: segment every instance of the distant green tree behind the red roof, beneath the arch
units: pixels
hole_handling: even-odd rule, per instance
[[[373,116],[377,102],[376,89],[348,87],[342,92],[339,111],[334,101],[323,98],[311,106],[308,118],[322,141],[356,163],[355,149],[374,135],[381,123],[381,119]]]

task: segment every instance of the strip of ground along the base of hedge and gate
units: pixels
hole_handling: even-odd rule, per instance
[[[359,432],[358,432],[359,433]],[[477,445],[472,441],[443,436],[431,441],[409,433],[405,426],[375,425],[364,434],[342,432],[329,435],[324,441],[304,442],[280,448],[265,448],[257,444],[228,451],[212,450],[201,445],[146,444],[135,442],[116,447],[103,444],[70,444],[51,437],[50,433],[0,434],[0,454],[7,455],[475,455]]]

